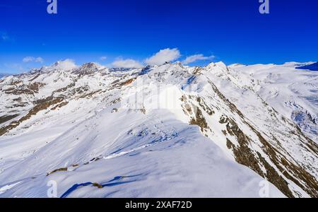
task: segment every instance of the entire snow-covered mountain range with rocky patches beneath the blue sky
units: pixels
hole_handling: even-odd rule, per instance
[[[0,197],[47,197],[48,182],[59,197],[318,197],[311,64],[2,78]]]

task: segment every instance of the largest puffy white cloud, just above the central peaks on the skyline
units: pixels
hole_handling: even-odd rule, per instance
[[[145,60],[148,65],[162,65],[165,62],[175,61],[181,56],[179,49],[162,49],[157,52],[153,57]]]

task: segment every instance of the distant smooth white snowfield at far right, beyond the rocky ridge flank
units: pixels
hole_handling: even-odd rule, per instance
[[[318,72],[310,68],[314,65],[290,62],[232,66],[232,69],[246,75],[240,83],[254,89],[275,110],[293,120],[307,136],[318,142]]]

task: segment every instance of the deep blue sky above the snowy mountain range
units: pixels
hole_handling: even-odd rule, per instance
[[[193,65],[317,61],[318,3],[269,0],[0,1],[0,73],[19,73],[73,59],[112,65],[145,64],[160,49],[177,48]],[[175,51],[168,52],[176,53]],[[106,59],[105,59],[106,58]],[[24,59],[24,61],[23,61]]]

